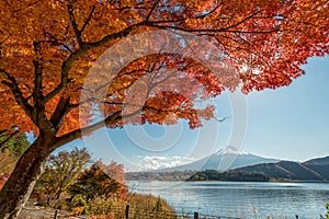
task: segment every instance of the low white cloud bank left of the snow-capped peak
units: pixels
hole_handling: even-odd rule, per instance
[[[195,158],[184,158],[184,157],[162,157],[162,155],[137,155],[139,159],[139,165],[143,170],[157,170],[157,169],[164,169],[164,168],[173,168],[177,165],[183,165],[186,163],[191,163],[195,161]]]

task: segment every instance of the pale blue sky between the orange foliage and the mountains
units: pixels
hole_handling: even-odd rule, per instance
[[[239,100],[218,96],[213,103],[219,117],[228,117],[223,123],[212,119],[195,130],[185,122],[101,129],[68,146],[86,145],[95,159],[117,161],[129,171],[191,162],[227,145],[293,161],[329,155],[329,57],[311,58],[303,68],[306,74],[290,87],[236,94]]]

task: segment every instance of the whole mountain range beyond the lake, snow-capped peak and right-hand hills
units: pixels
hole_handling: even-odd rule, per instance
[[[232,173],[236,171],[242,175],[262,174],[270,181],[329,182],[329,155],[305,162],[280,161],[258,157],[228,146],[189,164],[149,172],[127,173],[126,177],[128,180],[180,181],[189,180],[194,173],[206,170],[232,171]]]

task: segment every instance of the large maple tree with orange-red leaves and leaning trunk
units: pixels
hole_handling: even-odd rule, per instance
[[[0,218],[19,215],[56,148],[103,124],[115,128],[183,118],[191,128],[200,127],[202,119],[213,117],[214,108],[197,108],[195,101],[226,88],[248,93],[288,85],[304,73],[299,67],[307,58],[329,51],[326,0],[2,0],[0,14],[0,130],[14,126],[36,137],[0,192]],[[106,87],[102,106],[92,99],[81,102],[89,69],[102,70],[94,65],[106,48],[156,30],[180,31],[209,42],[222,51],[211,66],[225,73],[218,76],[191,57],[148,54],[127,64],[107,83],[102,77],[92,79]],[[144,39],[143,44],[150,43]],[[193,48],[182,41],[181,36],[178,47]],[[180,71],[186,73],[175,73]],[[138,96],[131,92],[134,102],[127,110],[125,91],[136,81]],[[163,87],[152,90],[162,81]],[[179,92],[171,87],[180,88]],[[202,95],[201,88],[206,91]],[[93,123],[92,113],[99,110],[104,123]]]

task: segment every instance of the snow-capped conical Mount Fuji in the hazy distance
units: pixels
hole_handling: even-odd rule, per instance
[[[259,155],[254,155],[237,149],[232,146],[227,146],[212,155],[202,158],[192,163],[184,165],[178,165],[173,168],[160,169],[155,171],[172,172],[172,171],[203,171],[203,170],[218,170],[227,171],[247,165],[256,165],[260,163],[275,163],[277,159],[269,159]]]

